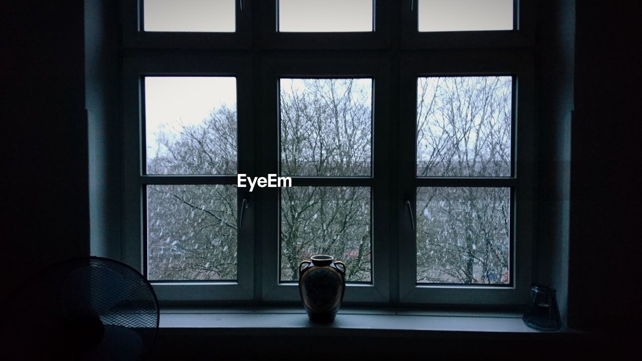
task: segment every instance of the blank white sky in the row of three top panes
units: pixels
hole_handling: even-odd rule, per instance
[[[372,0],[279,0],[279,31],[372,31]],[[418,0],[419,31],[512,30],[513,0]],[[144,0],[145,31],[236,31],[236,0]]]

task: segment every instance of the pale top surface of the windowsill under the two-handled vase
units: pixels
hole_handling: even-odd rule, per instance
[[[306,335],[311,333],[551,333],[529,328],[516,312],[429,312],[422,310],[371,310],[342,308],[331,324],[308,321],[300,308],[164,309],[161,332],[178,330],[243,331],[248,334]],[[574,333],[560,330],[554,333]]]

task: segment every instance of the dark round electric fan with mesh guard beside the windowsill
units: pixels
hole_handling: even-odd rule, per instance
[[[0,360],[141,360],[156,337],[159,304],[132,267],[87,257],[28,279],[0,317]]]

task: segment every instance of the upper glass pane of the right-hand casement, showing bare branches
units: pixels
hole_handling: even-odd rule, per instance
[[[417,176],[510,176],[512,78],[417,79]]]

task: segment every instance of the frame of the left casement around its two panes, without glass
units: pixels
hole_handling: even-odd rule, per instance
[[[237,91],[238,173],[254,168],[254,125],[252,115],[251,62],[245,57],[154,57],[133,56],[123,59],[122,89],[122,197],[121,258],[146,276],[146,189],[147,184],[229,184],[234,175],[146,175],[144,166],[144,77],[145,76],[235,76]],[[254,203],[247,189],[237,189],[237,217],[243,199]],[[230,301],[254,298],[254,208],[244,211],[238,229],[236,281],[151,281],[160,300]]]

